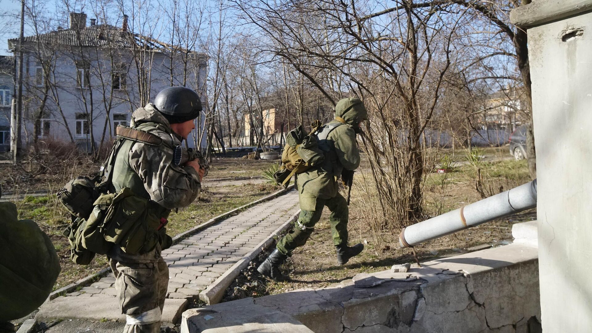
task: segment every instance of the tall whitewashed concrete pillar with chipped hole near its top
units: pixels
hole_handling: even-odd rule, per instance
[[[592,0],[514,9],[528,28],[543,332],[592,330]]]

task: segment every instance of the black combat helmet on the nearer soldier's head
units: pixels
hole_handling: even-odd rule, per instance
[[[154,105],[171,124],[185,123],[200,116],[201,100],[186,87],[169,87],[156,95]]]

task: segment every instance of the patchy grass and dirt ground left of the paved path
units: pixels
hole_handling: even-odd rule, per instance
[[[260,181],[256,183],[224,181],[221,185],[216,185],[215,182],[212,183],[216,186],[208,185],[208,182],[218,178],[259,176],[262,169],[271,164],[272,162],[269,161],[235,158],[214,159],[211,163],[210,173],[204,178],[200,198],[189,207],[179,209],[178,212],[174,210],[171,212],[167,233],[171,236],[178,235],[214,216],[279,190],[280,187]],[[76,175],[91,174],[97,169],[98,164],[88,161],[61,170],[57,166],[47,168],[46,171],[37,174],[27,172],[27,169],[21,167],[0,165],[0,184],[4,192],[15,191],[24,194],[34,190],[49,190],[51,193],[55,193],[57,189]],[[234,174],[236,176],[233,176]],[[23,181],[25,179],[29,181]],[[104,255],[96,255],[90,265],[76,265],[70,261],[70,245],[67,238],[62,235],[69,223],[69,214],[63,209],[54,194],[25,195],[24,198],[12,200],[12,202],[17,205],[19,219],[34,220],[52,239],[60,258],[60,265],[62,265],[62,272],[54,290],[94,274],[107,266],[107,258]]]

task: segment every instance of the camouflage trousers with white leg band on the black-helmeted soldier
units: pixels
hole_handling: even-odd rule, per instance
[[[169,268],[157,262],[110,260],[121,313],[126,315],[124,333],[160,333],[162,309],[169,284]]]

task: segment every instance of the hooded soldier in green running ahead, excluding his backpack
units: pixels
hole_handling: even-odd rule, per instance
[[[318,148],[325,156],[323,163],[297,175],[300,216],[288,234],[278,241],[274,252],[259,266],[259,273],[276,281],[289,279],[281,273],[279,265],[292,255],[295,248],[305,244],[324,206],[331,211],[329,222],[337,250],[337,264],[346,264],[349,258],[362,252],[363,244],[348,246],[348,203],[339,194],[337,180],[343,169],[353,171],[360,164],[356,133],[361,132],[360,124],[364,120],[368,120],[368,112],[358,98],[343,98],[337,103],[335,120],[321,127],[317,134]]]

